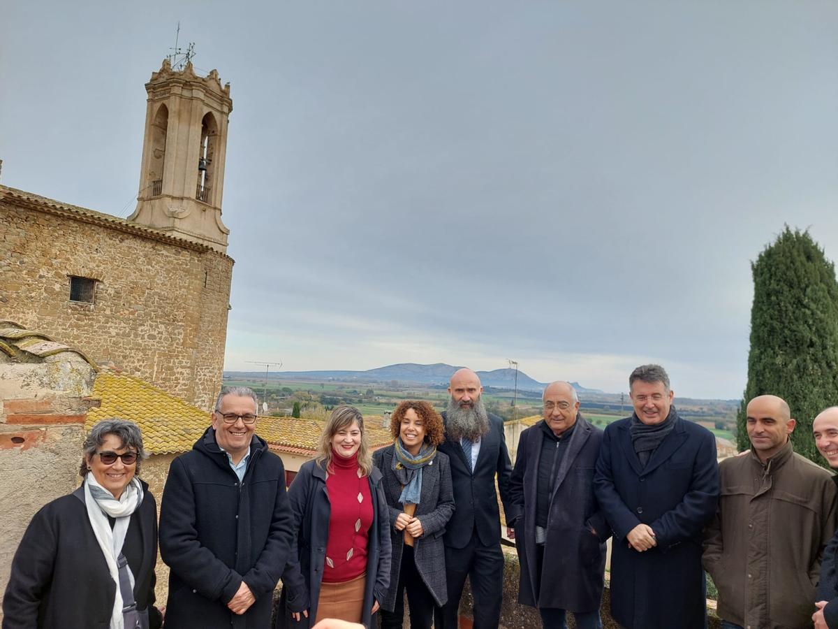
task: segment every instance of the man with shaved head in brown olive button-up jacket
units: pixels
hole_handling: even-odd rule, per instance
[[[751,450],[719,465],[722,497],[702,560],[730,627],[812,626],[820,559],[835,532],[835,483],[794,453],[794,424],[783,399],[753,398]]]

